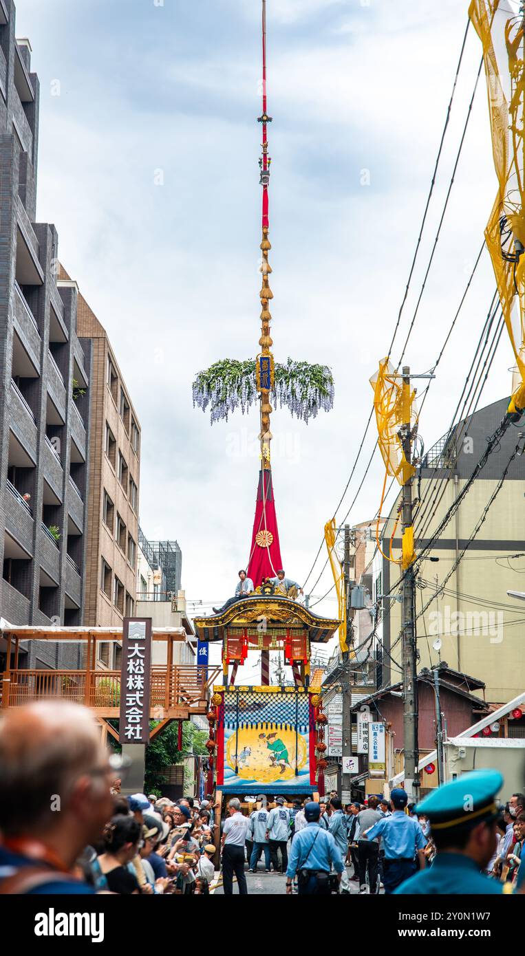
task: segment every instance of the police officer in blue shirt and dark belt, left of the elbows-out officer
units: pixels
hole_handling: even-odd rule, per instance
[[[319,827],[318,803],[307,803],[304,808],[306,827],[295,834],[286,871],[286,892],[292,895],[292,883],[297,876],[299,896],[330,894],[330,870],[334,867],[340,882],[342,857],[331,833]]]

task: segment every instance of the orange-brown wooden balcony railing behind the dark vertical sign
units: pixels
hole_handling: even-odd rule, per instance
[[[11,670],[0,675],[0,706],[17,707],[55,697],[76,704],[120,707],[120,670]],[[151,670],[151,711],[204,704],[207,669],[175,664]]]

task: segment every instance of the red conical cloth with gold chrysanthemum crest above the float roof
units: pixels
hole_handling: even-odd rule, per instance
[[[253,521],[252,548],[248,576],[253,587],[262,584],[264,577],[274,577],[282,568],[277,515],[273,500],[272,469],[265,468],[259,473],[259,488],[255,519]]]

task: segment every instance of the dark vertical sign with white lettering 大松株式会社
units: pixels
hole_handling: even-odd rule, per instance
[[[151,618],[124,618],[120,671],[120,744],[149,743]]]

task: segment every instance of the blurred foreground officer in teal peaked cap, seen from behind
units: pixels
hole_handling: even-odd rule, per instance
[[[437,854],[432,866],[406,880],[396,894],[493,894],[509,892],[482,870],[496,846],[498,808],[503,785],[498,771],[471,771],[429,793],[416,807],[426,814]],[[512,892],[512,888],[510,888]]]

